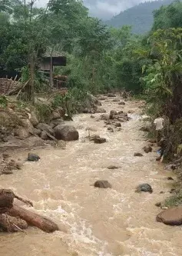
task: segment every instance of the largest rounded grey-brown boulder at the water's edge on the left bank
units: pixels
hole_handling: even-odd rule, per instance
[[[55,138],[63,141],[76,141],[79,138],[79,134],[72,125],[58,125],[55,127]]]

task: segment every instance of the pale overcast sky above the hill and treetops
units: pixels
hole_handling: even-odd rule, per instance
[[[110,19],[121,11],[148,0],[83,0],[85,6],[94,17]],[[44,6],[48,0],[38,0],[38,5]]]

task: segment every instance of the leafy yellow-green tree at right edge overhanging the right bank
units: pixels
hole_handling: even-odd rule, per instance
[[[174,123],[182,111],[180,50],[182,28],[158,29],[149,38],[152,65],[147,66],[144,82],[152,105]]]

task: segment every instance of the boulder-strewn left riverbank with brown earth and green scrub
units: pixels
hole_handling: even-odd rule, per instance
[[[36,98],[35,106],[25,105],[11,97],[6,101],[7,104],[0,108],[0,151],[45,147],[57,145],[61,139],[78,139],[77,131],[66,126],[71,119],[67,109],[55,108],[50,98]],[[83,106],[75,111],[105,112],[93,95],[88,95],[87,102],[84,101]],[[63,126],[65,128],[61,130]]]

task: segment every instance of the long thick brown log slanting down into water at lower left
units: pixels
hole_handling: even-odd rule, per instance
[[[8,211],[8,214],[13,217],[22,218],[22,220],[26,221],[31,226],[40,228],[42,231],[45,231],[47,233],[59,230],[58,225],[55,224],[53,221],[38,214],[35,214],[32,211],[28,211],[25,208],[19,207],[16,204],[13,204],[13,207]]]

